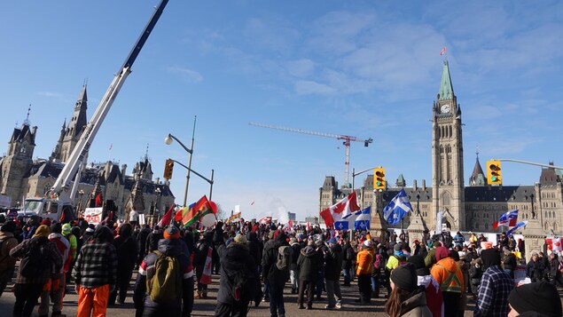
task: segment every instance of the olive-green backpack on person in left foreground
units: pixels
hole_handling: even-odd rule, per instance
[[[154,251],[158,258],[154,262],[154,275],[146,281],[146,289],[152,301],[170,304],[182,298],[182,268],[176,257]]]

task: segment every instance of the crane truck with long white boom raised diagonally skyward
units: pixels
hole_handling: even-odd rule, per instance
[[[151,35],[152,28],[156,25],[164,8],[168,4],[168,0],[161,0],[160,4],[155,7],[152,13],[151,20],[145,26],[145,29],[137,39],[137,43],[133,46],[129,56],[121,66],[120,70],[113,76],[113,81],[107,88],[104,98],[102,98],[90,119],[90,123],[82,132],[82,135],[72,154],[68,158],[65,167],[61,170],[59,177],[51,189],[45,194],[44,197],[27,198],[23,204],[23,210],[20,210],[18,215],[25,218],[51,218],[63,223],[74,220],[74,205],[72,197],[75,196],[78,184],[80,183],[82,162],[84,157],[90,150],[90,145],[96,137],[98,130],[104,119],[106,118],[109,109],[113,105],[113,101],[121,90],[121,86],[125,83],[128,75],[131,73],[131,67],[137,59],[139,52],[145,45],[146,40]],[[74,178],[74,185],[71,186]]]

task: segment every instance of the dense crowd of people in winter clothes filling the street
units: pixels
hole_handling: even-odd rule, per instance
[[[356,303],[385,297],[392,317],[463,316],[469,304],[474,316],[561,316],[557,254],[532,254],[525,264],[523,242],[505,234],[485,249],[485,237],[474,234],[410,242],[405,233],[371,237],[244,221],[211,228],[39,218],[0,224],[0,296],[15,275],[18,317],[31,316],[38,303],[39,316],[61,316],[72,285],[79,317],[104,316],[131,289],[136,316],[187,317],[196,299],[209,297],[213,273],[220,276],[216,316],[244,317],[262,304],[270,316],[284,317],[285,291],[297,295],[298,309],[341,310],[352,304],[342,297],[352,281]],[[529,283],[515,287],[515,271],[524,265]]]

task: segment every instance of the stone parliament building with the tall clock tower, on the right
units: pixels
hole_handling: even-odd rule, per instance
[[[403,218],[403,228],[411,239],[420,239],[426,231],[436,230],[439,211],[442,211],[442,227],[454,234],[461,232],[501,233],[492,224],[508,210],[520,210],[518,221],[528,220],[528,226],[517,233],[524,234],[528,250],[542,250],[546,235],[563,233],[563,175],[560,170],[543,168],[538,182],[529,186],[489,186],[481,168],[479,155],[472,175],[465,186],[462,112],[457,104],[450,77],[450,67],[444,61],[440,90],[432,106],[432,186],[413,180],[407,186],[403,175],[395,186],[374,191],[373,175],[368,175],[364,185],[356,188],[358,204],[371,208],[371,232],[379,236],[389,228],[382,217],[383,208],[395,194],[404,189],[414,210]],[[387,182],[389,179],[387,178]],[[352,188],[339,188],[333,176],[325,177],[319,188],[319,212],[340,201]]]

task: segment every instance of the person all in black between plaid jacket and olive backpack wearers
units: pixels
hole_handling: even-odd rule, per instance
[[[137,241],[133,237],[133,226],[126,223],[119,228],[119,235],[113,240],[113,246],[117,250],[117,284],[115,290],[110,294],[108,305],[115,304],[118,297],[119,303],[125,303],[129,281],[133,275],[133,269],[137,263]]]

